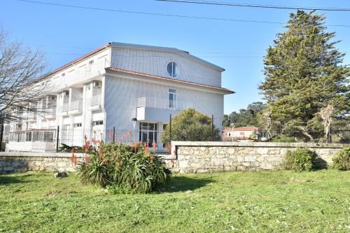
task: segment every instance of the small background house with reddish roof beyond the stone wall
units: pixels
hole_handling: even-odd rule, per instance
[[[249,140],[249,139],[261,139],[267,140],[264,132],[261,132],[258,127],[244,126],[232,129],[231,127],[225,127],[222,134],[223,141],[234,140]]]

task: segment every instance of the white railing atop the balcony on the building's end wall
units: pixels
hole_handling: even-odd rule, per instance
[[[137,99],[137,107],[151,107],[183,110],[192,107],[193,104],[183,101],[169,101],[168,99],[158,99],[151,97],[142,97]]]

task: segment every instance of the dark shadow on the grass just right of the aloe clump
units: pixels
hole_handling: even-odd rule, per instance
[[[209,183],[215,182],[213,178],[189,178],[186,176],[174,176],[170,178],[161,192],[184,192],[202,188]]]

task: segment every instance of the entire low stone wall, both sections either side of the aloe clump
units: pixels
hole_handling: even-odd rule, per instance
[[[172,155],[162,155],[175,172],[257,171],[280,169],[283,155],[297,147],[314,150],[325,164],[344,144],[230,143],[173,141]],[[78,161],[83,154],[76,154]],[[0,152],[0,173],[11,171],[76,171],[70,153]]]

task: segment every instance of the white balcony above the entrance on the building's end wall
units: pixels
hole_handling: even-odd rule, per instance
[[[137,120],[168,122],[170,114],[189,108],[193,104],[183,101],[169,101],[151,97],[137,99]]]

